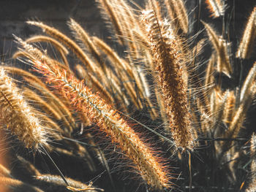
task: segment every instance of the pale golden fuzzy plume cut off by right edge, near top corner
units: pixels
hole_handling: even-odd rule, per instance
[[[237,58],[250,58],[256,37],[256,7],[253,9],[244,29],[243,37],[236,52]]]

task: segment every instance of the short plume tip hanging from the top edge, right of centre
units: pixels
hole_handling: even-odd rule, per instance
[[[208,9],[211,12],[211,17],[219,18],[225,13],[225,0],[206,0]]]

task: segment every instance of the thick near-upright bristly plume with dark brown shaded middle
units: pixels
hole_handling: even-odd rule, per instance
[[[192,124],[187,101],[187,86],[182,78],[184,57],[173,30],[167,23],[159,23],[152,11],[143,12],[151,53],[154,55],[157,82],[169,118],[176,147],[193,149]]]

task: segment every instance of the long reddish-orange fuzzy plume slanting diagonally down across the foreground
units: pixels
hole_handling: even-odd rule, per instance
[[[76,109],[88,115],[92,123],[96,123],[101,131],[105,132],[112,142],[130,158],[135,169],[138,170],[143,180],[153,188],[169,188],[170,177],[165,172],[165,166],[159,162],[159,158],[138,134],[121,118],[116,110],[106,104],[99,96],[91,93],[83,82],[75,79],[57,66],[47,66],[39,61],[34,61],[38,72],[48,77],[48,82],[59,88]]]

